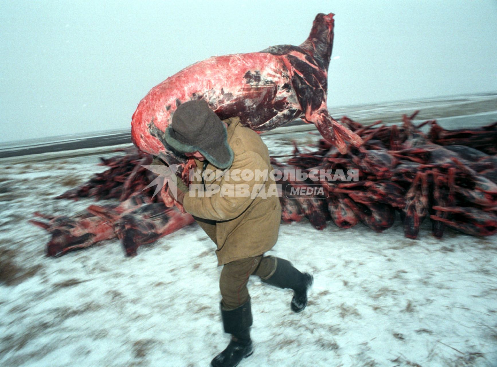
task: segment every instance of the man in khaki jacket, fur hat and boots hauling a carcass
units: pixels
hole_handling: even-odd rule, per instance
[[[189,191],[178,180],[175,199],[217,245],[218,264],[223,266],[219,281],[221,316],[225,332],[232,337],[211,366],[237,366],[253,352],[248,277],[257,275],[265,283],[293,289],[291,309],[294,312],[306,307],[307,290],[313,277],[302,274],[287,260],[264,256],[278,238],[281,206],[277,195],[253,197],[233,191],[227,194],[229,190],[223,190],[223,185],[234,187],[243,183],[248,185],[249,192],[254,187],[269,191],[269,185],[275,184],[270,177],[255,175],[256,171],[271,171],[267,147],[257,133],[243,127],[238,117],[221,121],[207,102],[200,99],[178,106],[164,136],[175,151],[193,157],[202,171],[221,173],[210,178],[203,175],[202,181],[193,178],[190,183],[217,184],[221,187],[217,193],[201,195],[198,191]],[[230,175],[226,174],[228,171]],[[254,175],[248,174],[241,180],[240,172]]]

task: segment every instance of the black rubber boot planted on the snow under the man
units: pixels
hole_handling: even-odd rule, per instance
[[[250,326],[252,325],[250,298],[234,310],[224,309],[221,303],[221,316],[224,331],[231,334],[231,341],[228,347],[212,360],[211,366],[235,367],[253,353],[250,340]]]

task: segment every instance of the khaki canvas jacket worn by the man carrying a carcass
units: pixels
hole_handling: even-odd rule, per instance
[[[257,177],[255,174],[249,180],[249,176],[242,178],[242,175],[237,175],[238,171],[235,171],[270,172],[272,168],[266,145],[256,132],[241,125],[238,117],[224,122],[228,124],[228,144],[235,155],[233,164],[228,174],[227,170],[222,171],[208,164],[205,171],[217,170],[217,177],[214,174],[209,178],[204,176],[207,187],[217,184],[224,187],[224,190],[211,196],[201,196],[198,191],[190,189],[183,201],[184,209],[195,217],[197,223],[217,245],[218,265],[261,255],[270,250],[278,238],[281,221],[281,206],[275,193],[274,180],[270,176]],[[203,167],[202,162],[195,162],[197,168]],[[191,180],[191,184],[201,184],[198,175]],[[244,184],[244,188],[248,185],[250,193],[264,191],[268,195],[230,195],[229,190],[237,184]]]

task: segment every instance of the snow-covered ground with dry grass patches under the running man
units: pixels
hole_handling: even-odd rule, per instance
[[[315,138],[301,133],[302,142]],[[291,147],[266,138],[272,154]],[[54,200],[104,168],[98,156],[0,166],[0,366],[208,366],[229,341],[219,312],[214,244],[196,225],[127,258],[118,240],[53,259],[27,219],[73,214],[91,200]],[[309,305],[249,281],[254,354],[240,367],[497,366],[497,238],[425,222],[317,231],[282,225],[270,254],[315,282]]]

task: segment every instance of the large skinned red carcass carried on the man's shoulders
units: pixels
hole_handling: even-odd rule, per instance
[[[183,102],[205,99],[221,118],[240,117],[263,132],[297,118],[316,125],[345,153],[346,142],[362,139],[328,112],[328,67],[333,45],[332,13],[318,14],[300,46],[278,45],[260,52],[211,57],[197,62],[154,87],[138,104],[131,121],[134,144],[161,156],[168,165],[184,163],[164,139],[166,127]]]

